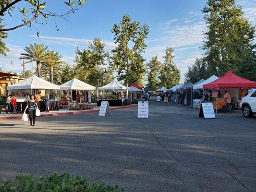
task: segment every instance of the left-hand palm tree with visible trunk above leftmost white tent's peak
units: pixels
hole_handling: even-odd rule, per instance
[[[30,44],[28,47],[24,48],[25,53],[22,53],[20,60],[29,60],[28,62],[35,61],[37,63],[37,75],[41,77],[41,63],[48,59],[49,52],[46,52],[47,46],[45,47],[44,44],[37,44],[34,45]]]

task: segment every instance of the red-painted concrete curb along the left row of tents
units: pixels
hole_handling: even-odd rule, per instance
[[[116,108],[110,108],[110,110],[118,110],[123,108],[134,108],[137,107],[137,104],[123,106],[123,107],[116,107]],[[52,116],[61,116],[61,115],[75,115],[75,114],[85,114],[85,113],[96,113],[99,109],[92,109],[92,110],[82,110],[82,111],[73,111],[73,112],[67,112],[67,113],[48,113],[48,114],[41,114],[40,117],[52,117]],[[0,120],[10,120],[10,119],[21,119],[22,114],[18,116],[6,116],[6,117],[0,117]]]

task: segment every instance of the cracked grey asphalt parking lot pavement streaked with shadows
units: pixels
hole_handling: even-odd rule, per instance
[[[155,100],[149,119],[136,110],[1,120],[0,179],[66,171],[126,192],[256,192],[256,118]]]

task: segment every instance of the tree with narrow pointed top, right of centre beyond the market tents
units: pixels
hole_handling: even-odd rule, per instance
[[[181,71],[178,69],[176,64],[173,62],[173,48],[166,48],[165,56],[163,57],[164,62],[162,64],[159,74],[159,86],[171,88],[172,86],[179,84],[181,79]]]

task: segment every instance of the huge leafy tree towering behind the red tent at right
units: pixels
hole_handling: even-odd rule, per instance
[[[207,71],[222,75],[228,70],[256,80],[255,26],[244,17],[235,0],[208,0],[203,13],[207,31]]]

